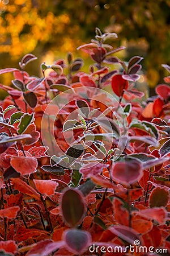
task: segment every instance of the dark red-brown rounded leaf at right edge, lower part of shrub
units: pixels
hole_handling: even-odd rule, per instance
[[[166,207],[169,202],[169,191],[162,187],[156,187],[152,190],[149,198],[150,207]]]

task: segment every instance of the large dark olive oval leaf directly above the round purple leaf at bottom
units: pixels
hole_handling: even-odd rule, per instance
[[[61,210],[67,225],[71,227],[78,226],[86,213],[86,204],[82,192],[66,188],[62,194]]]

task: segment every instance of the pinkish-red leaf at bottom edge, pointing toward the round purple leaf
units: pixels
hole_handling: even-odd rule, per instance
[[[33,249],[29,250],[26,256],[46,256],[53,253],[62,247],[65,243],[63,241],[53,242],[52,240],[40,241]]]

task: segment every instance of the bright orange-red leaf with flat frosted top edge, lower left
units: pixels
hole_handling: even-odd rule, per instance
[[[46,196],[54,195],[56,191],[56,187],[58,185],[57,182],[52,180],[33,180],[36,185],[37,190]]]

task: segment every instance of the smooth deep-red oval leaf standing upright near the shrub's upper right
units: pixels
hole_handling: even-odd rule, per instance
[[[124,90],[128,89],[128,81],[122,78],[122,75],[115,75],[112,77],[112,89],[118,96],[122,96]]]

